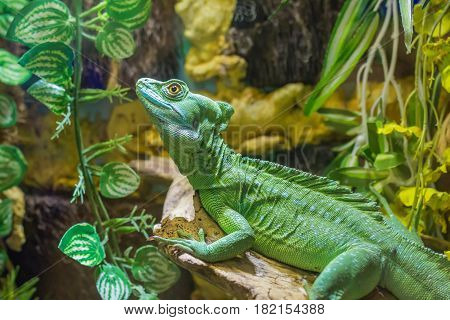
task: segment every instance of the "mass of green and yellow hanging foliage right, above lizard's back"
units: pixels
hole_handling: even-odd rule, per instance
[[[318,110],[328,125],[344,130],[349,136],[348,143],[335,148],[338,156],[326,170],[330,177],[360,192],[372,193],[386,204],[384,210],[392,219],[399,219],[412,232],[446,242],[448,247],[450,194],[448,189],[439,189],[439,181],[448,175],[450,166],[446,120],[449,115],[450,3],[398,2],[361,1],[359,5],[353,5],[352,0],[346,2],[328,45],[322,78],[309,97],[305,112]],[[359,111],[355,114],[320,109],[327,95],[338,88],[330,83],[340,84],[342,77],[350,74],[351,70],[345,66],[339,67],[340,57],[347,57],[347,66],[348,59],[355,59],[351,69],[362,59],[362,55],[352,55],[354,51],[343,43],[369,37],[359,26],[368,23],[374,14],[381,17],[381,27],[370,36],[370,45],[364,50],[367,50],[365,62],[357,71]],[[397,59],[402,50],[400,24],[405,32],[406,51],[413,50],[416,54],[415,74],[410,80],[413,87],[406,92],[405,86],[395,79]],[[388,37],[391,40],[388,41]],[[389,58],[385,51],[387,44]],[[374,91],[368,79],[378,62],[384,83],[381,90]]]

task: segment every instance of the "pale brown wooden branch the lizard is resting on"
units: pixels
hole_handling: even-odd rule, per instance
[[[161,224],[155,227],[156,235],[174,238],[181,229],[196,237],[200,228],[205,231],[208,242],[224,235],[201,207],[187,179],[173,170],[169,159],[135,162],[133,166],[149,175],[158,175],[161,170],[161,176],[173,178]],[[166,247],[165,250],[180,267],[200,275],[237,299],[304,300],[308,298],[305,287],[311,286],[316,278],[315,273],[287,266],[254,251],[227,261],[206,263],[177,249]],[[392,299],[392,295],[377,289],[366,298]]]

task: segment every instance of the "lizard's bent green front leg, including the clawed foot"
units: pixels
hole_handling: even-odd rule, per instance
[[[223,208],[215,214],[216,221],[227,235],[219,240],[207,244],[203,230],[200,230],[200,241],[193,239],[166,239],[154,237],[160,242],[173,245],[189,252],[193,256],[207,262],[227,260],[250,249],[255,241],[253,229],[247,220],[238,212],[230,208]]]

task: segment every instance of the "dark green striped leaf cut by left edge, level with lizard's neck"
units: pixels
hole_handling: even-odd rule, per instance
[[[0,145],[0,192],[17,186],[25,176],[27,167],[19,148]]]

